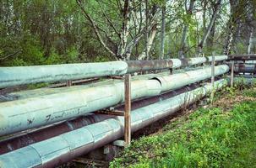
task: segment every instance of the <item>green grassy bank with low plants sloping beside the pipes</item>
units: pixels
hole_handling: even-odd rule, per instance
[[[133,141],[110,167],[256,167],[255,97],[254,88],[227,89],[214,105]]]

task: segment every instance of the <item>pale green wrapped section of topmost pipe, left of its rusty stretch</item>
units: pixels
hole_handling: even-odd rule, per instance
[[[124,61],[0,67],[0,88],[38,82],[68,81],[98,76],[120,76],[127,71],[128,65]]]

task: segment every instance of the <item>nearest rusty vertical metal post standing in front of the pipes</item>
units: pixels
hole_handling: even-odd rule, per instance
[[[131,144],[131,75],[126,74],[124,79],[124,140],[125,145]]]

